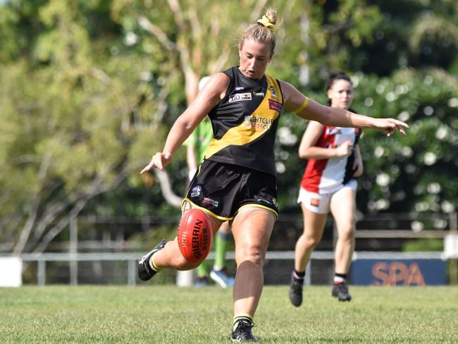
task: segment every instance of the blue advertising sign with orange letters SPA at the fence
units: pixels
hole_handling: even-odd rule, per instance
[[[444,285],[442,259],[357,259],[352,262],[350,283],[355,285]]]

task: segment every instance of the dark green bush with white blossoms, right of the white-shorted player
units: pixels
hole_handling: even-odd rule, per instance
[[[458,204],[457,80],[441,70],[400,70],[390,79],[359,82],[365,89],[359,99],[373,102],[360,109],[397,113],[411,125],[408,135],[396,140],[366,130],[361,152],[369,164],[361,178],[361,211],[453,211]]]

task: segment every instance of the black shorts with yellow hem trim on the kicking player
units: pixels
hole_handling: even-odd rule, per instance
[[[252,168],[205,160],[183,202],[225,221],[245,207],[266,209],[278,216],[277,179]]]

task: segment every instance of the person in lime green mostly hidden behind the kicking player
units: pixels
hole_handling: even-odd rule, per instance
[[[205,83],[209,80],[209,76],[205,76],[199,81],[199,91],[202,90]],[[213,128],[211,121],[206,116],[204,121],[199,123],[194,129],[190,137],[183,143],[186,146],[186,162],[189,171],[189,179],[194,178],[199,164],[204,161],[205,151],[209,147],[213,139]],[[213,268],[210,271],[207,269],[206,261],[202,262],[197,267],[197,281],[194,283],[196,287],[204,287],[209,285],[209,277],[223,288],[232,287],[234,285],[234,277],[228,274],[228,269],[225,265],[225,254],[228,251],[228,245],[232,240],[232,233],[228,221],[224,222],[213,238],[213,248],[215,252],[215,260]]]

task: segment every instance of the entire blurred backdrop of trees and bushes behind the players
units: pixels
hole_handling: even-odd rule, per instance
[[[280,17],[268,73],[326,102],[328,74],[345,70],[354,109],[412,125],[407,137],[364,133],[359,210],[456,209],[453,0],[10,0],[0,4],[0,240],[38,252],[78,214],[176,214],[157,178],[137,172],[199,78],[237,63],[242,30],[266,6]],[[284,213],[299,213],[306,125],[290,113],[280,120]],[[181,194],[184,151],[168,174]]]

